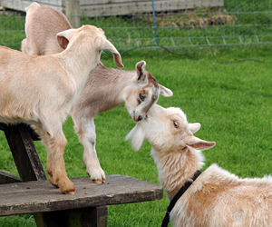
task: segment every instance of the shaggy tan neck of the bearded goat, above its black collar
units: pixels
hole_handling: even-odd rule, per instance
[[[202,154],[188,148],[168,153],[160,153],[152,148],[151,154],[157,164],[160,183],[170,200],[204,165]]]

